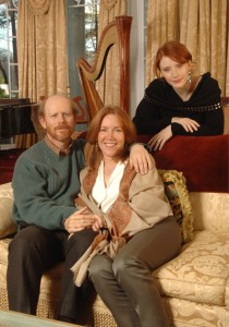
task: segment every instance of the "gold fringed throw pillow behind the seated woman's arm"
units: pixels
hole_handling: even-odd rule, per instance
[[[181,228],[183,243],[193,238],[193,215],[186,190],[186,180],[177,170],[158,170],[165,184],[165,192],[172,208],[173,216]]]

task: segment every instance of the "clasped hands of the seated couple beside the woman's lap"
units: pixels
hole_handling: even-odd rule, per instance
[[[103,226],[101,217],[88,213],[86,207],[75,211],[64,221],[64,228],[70,234],[87,228],[99,231]]]

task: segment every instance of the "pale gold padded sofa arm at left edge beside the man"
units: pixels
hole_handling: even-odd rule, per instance
[[[0,185],[0,239],[16,231],[12,219],[13,190],[11,183]]]

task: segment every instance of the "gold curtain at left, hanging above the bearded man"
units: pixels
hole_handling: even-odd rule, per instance
[[[41,96],[68,94],[65,26],[65,0],[19,1],[19,97],[39,102]],[[16,146],[28,147],[22,138]]]

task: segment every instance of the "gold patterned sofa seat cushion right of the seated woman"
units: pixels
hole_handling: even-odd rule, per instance
[[[229,235],[196,231],[181,254],[153,272],[161,295],[229,305]]]

